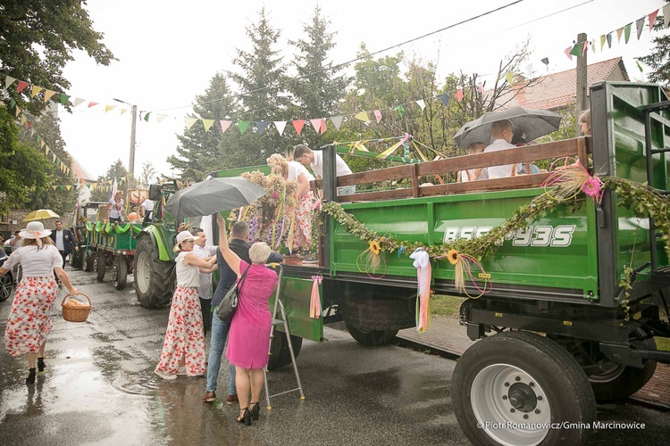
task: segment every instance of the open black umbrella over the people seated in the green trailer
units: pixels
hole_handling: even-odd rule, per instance
[[[456,132],[454,139],[459,147],[468,147],[473,143],[490,143],[490,126],[497,120],[511,120],[515,136],[523,133],[526,141],[555,132],[561,123],[561,115],[549,110],[525,109],[514,107],[503,111],[489,111],[476,120],[465,124]]]

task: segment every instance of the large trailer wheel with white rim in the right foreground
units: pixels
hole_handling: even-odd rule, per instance
[[[458,424],[477,445],[582,445],[592,432],[584,426],[596,420],[596,400],[576,359],[527,332],[474,343],[456,363],[451,396]],[[557,425],[528,426],[544,423]]]

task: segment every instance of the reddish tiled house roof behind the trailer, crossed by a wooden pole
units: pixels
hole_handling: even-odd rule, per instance
[[[617,72],[618,69],[618,72]],[[587,66],[587,85],[604,80],[630,80],[621,57],[592,63]],[[517,86],[498,97],[496,103],[503,109],[516,106],[530,109],[556,110],[575,102],[577,70],[566,70],[542,76],[531,87],[523,87],[521,78]]]

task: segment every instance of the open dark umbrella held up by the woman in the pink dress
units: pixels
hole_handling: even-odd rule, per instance
[[[263,187],[245,178],[209,178],[172,195],[165,209],[178,218],[211,215],[246,206],[264,194]]]

